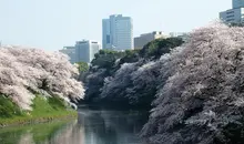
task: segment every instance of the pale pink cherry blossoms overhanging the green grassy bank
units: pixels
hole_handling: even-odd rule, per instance
[[[59,52],[44,52],[22,47],[0,48],[0,93],[23,110],[31,110],[35,94],[59,95],[70,103],[84,95],[74,78],[78,69]]]

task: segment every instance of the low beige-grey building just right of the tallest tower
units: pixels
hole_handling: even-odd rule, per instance
[[[146,43],[155,40],[166,38],[161,31],[153,31],[150,33],[141,34],[134,38],[134,49],[142,49]]]

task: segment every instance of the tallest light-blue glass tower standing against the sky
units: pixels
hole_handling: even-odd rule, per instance
[[[130,17],[110,16],[102,20],[102,47],[110,50],[132,50],[133,24]]]

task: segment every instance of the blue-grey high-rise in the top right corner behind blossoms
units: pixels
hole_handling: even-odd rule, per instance
[[[220,19],[225,23],[243,23],[244,0],[232,0],[232,9],[220,12]]]

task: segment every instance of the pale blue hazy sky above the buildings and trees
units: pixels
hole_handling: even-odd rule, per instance
[[[132,17],[134,37],[191,31],[218,18],[231,0],[0,0],[0,40],[48,51],[102,40],[102,19]]]

